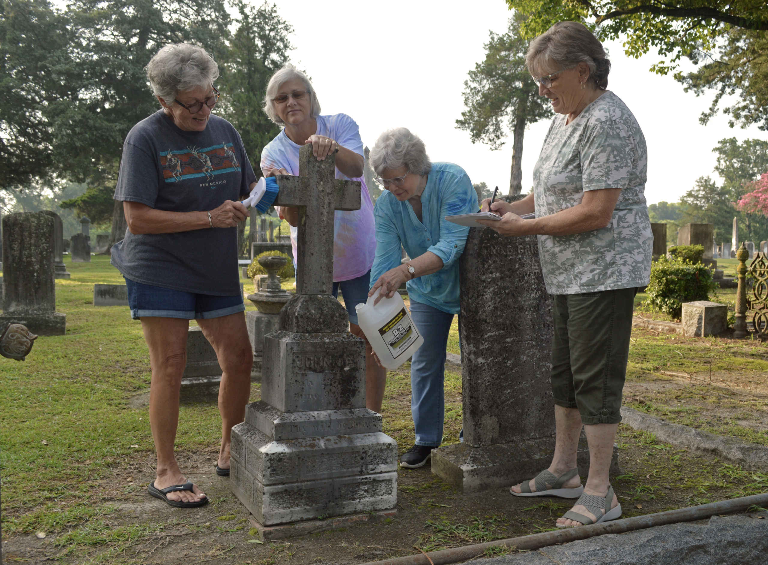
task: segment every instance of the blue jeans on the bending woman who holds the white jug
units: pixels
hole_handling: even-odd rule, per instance
[[[445,347],[453,314],[411,301],[411,317],[424,336],[424,344],[411,359],[411,415],[416,445],[438,447],[445,420]]]

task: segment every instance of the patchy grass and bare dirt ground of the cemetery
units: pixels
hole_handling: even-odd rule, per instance
[[[506,488],[463,495],[427,466],[399,471],[392,519],[260,543],[227,477],[213,472],[220,422],[212,403],[181,407],[176,444],[182,469],[212,504],[168,507],[147,494],[155,459],[141,325],[127,307],[92,305],[93,284],[121,277],[103,255],[65,261],[71,279],[56,281],[56,291],[67,334],[38,338],[24,362],[0,360],[8,563],[363,563],[548,530],[571,505],[511,497]],[[456,324],[449,351],[458,354]],[[458,441],[462,404],[460,371],[447,369],[449,444]],[[664,420],[768,446],[768,344],[759,340],[635,329],[624,395],[627,406]],[[255,385],[251,400],[259,397]],[[389,373],[382,413],[402,454],[414,438],[407,364]],[[768,472],[690,454],[626,425],[617,444],[621,474],[612,484],[624,517],[768,491]]]

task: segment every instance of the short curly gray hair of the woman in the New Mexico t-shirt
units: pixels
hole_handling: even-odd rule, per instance
[[[213,86],[219,65],[204,48],[188,43],[169,43],[151,58],[144,71],[155,96],[170,104],[179,92]]]

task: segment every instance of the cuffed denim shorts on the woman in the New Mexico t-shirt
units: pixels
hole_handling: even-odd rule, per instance
[[[245,311],[243,295],[213,296],[194,292],[173,291],[153,287],[126,278],[131,317],[179,317],[184,320],[207,320]]]

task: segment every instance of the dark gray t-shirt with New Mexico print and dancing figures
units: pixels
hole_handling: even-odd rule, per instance
[[[204,131],[183,131],[160,110],[123,144],[114,199],[174,212],[210,211],[242,200],[256,182],[243,140],[211,115]],[[112,246],[111,263],[131,281],[214,296],[240,294],[237,228],[132,234]]]

